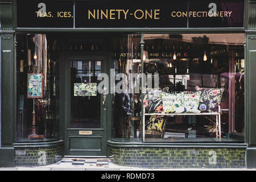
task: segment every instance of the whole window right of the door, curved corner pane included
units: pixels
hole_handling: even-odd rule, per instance
[[[116,38],[115,75],[141,73],[139,42]],[[113,94],[113,140],[241,141],[233,136],[244,132],[244,34],[144,34],[144,42],[146,89]]]

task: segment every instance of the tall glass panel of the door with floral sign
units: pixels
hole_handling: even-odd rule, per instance
[[[71,128],[100,128],[99,60],[71,61]]]

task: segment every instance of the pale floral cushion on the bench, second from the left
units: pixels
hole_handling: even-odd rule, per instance
[[[183,92],[162,93],[164,113],[183,113],[183,97]]]

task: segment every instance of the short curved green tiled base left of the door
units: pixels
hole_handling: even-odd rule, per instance
[[[46,166],[63,158],[63,146],[15,148],[15,166]]]

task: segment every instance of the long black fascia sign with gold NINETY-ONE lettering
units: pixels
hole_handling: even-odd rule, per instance
[[[244,7],[244,0],[17,0],[17,27],[73,28],[74,23],[75,28],[243,27]]]

